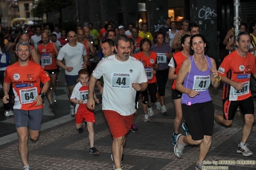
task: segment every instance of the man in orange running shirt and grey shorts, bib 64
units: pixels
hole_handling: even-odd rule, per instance
[[[18,62],[10,65],[4,72],[3,102],[7,104],[8,91],[12,83],[15,91],[15,104],[13,106],[15,126],[19,137],[19,155],[23,169],[30,169],[28,165],[28,135],[31,141],[36,141],[42,121],[43,98],[49,88],[50,78],[42,66],[30,61],[30,44],[19,42],[16,45]],[[40,82],[43,86],[40,89]]]

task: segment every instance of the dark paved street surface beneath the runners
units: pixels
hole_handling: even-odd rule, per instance
[[[78,134],[74,126],[74,118],[69,116],[64,70],[61,70],[58,79],[60,82],[58,82],[56,91],[56,107],[54,111],[51,111],[48,109],[47,100],[44,100],[44,118],[40,137],[36,143],[28,142],[31,169],[113,169],[113,162],[110,158],[112,136],[101,111],[101,104],[96,106],[95,111],[95,146],[99,150],[99,155],[94,156],[89,154],[87,130],[83,134]],[[101,100],[101,95],[98,91],[96,92]],[[221,113],[221,90],[211,89],[210,93],[216,113]],[[0,103],[2,104],[2,101]],[[150,118],[150,122],[144,122],[140,105],[136,121],[139,132],[129,132],[128,134],[124,148],[123,169],[194,169],[198,159],[198,146],[186,146],[182,158],[176,158],[173,153],[171,136],[175,111],[171,100],[170,81],[167,82],[166,107],[167,114],[163,115],[154,106],[155,116]],[[18,141],[13,117],[5,117],[3,107],[0,112],[0,169],[22,169],[17,151]],[[220,168],[219,166],[223,166],[225,169],[256,169],[255,156],[244,157],[241,153],[236,152],[237,145],[241,141],[242,125],[239,111],[237,111],[232,127],[225,128],[218,124],[214,125],[212,146],[205,159],[207,160],[205,163],[208,165],[205,166],[212,166],[215,169]],[[183,133],[182,129],[180,133]],[[248,148],[256,155],[255,125],[248,143],[250,144]],[[221,160],[232,161],[219,164]],[[246,165],[248,162],[239,162],[239,160],[253,160],[253,162]]]

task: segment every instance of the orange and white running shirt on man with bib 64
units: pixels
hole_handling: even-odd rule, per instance
[[[40,81],[50,81],[42,66],[30,61],[26,66],[20,66],[18,62],[10,65],[4,72],[4,82],[11,83],[15,102],[13,109],[35,110],[41,109],[42,104],[35,106],[35,98],[40,93]]]

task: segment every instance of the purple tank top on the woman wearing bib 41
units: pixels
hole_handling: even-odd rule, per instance
[[[185,76],[183,86],[185,88],[198,91],[200,94],[191,98],[186,93],[182,93],[182,104],[192,105],[209,102],[212,100],[209,94],[210,68],[212,68],[212,62],[208,56],[205,56],[207,59],[208,68],[205,72],[202,72],[197,68],[193,56],[190,56],[189,58],[191,60],[191,71]]]

